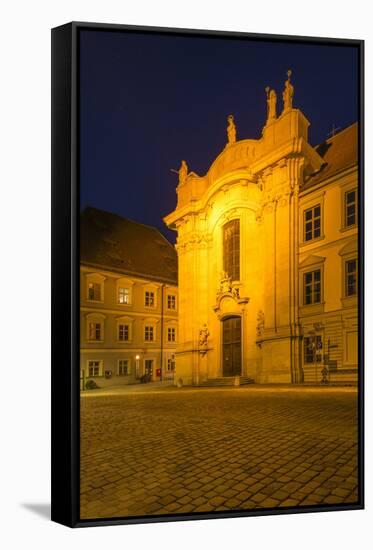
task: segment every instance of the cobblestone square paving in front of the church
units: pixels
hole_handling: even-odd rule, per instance
[[[81,426],[81,518],[357,501],[351,388],[92,392]]]

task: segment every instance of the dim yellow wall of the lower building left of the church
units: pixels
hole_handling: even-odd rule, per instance
[[[88,281],[102,282],[102,300],[88,299]],[[118,284],[131,287],[131,303],[118,302]],[[145,290],[155,293],[155,306],[145,306]],[[162,292],[163,292],[163,338],[162,326]],[[176,296],[176,309],[168,309],[168,294]],[[100,361],[99,376],[94,380],[100,387],[133,384],[145,373],[145,361],[153,360],[153,380],[160,380],[157,370],[162,368],[162,378],[173,378],[174,373],[167,370],[168,359],[175,356],[178,334],[178,289],[176,285],[160,283],[150,279],[133,278],[128,275],[97,270],[82,265],[80,269],[80,366],[81,377],[86,382],[89,377],[88,362]],[[102,341],[92,341],[87,337],[90,320],[102,322]],[[118,323],[130,326],[130,340],[118,339]],[[144,326],[151,324],[155,329],[155,340],[145,342]],[[168,341],[168,327],[176,328],[176,342]],[[138,359],[137,359],[138,357]],[[118,375],[118,361],[129,361],[128,376]],[[105,377],[105,371],[110,376]]]

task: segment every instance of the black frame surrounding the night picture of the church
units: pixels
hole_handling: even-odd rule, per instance
[[[353,45],[359,50],[359,499],[355,504],[82,520],[79,516],[79,32],[84,29]],[[364,42],[73,22],[52,29],[52,520],[69,527],[364,508]]]

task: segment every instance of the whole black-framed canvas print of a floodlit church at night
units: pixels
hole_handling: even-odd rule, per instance
[[[361,509],[363,42],[52,30],[52,519]]]

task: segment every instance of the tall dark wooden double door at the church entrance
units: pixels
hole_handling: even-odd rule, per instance
[[[223,376],[240,376],[241,358],[241,317],[223,319]]]

